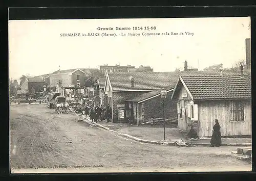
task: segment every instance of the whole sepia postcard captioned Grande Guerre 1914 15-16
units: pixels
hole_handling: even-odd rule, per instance
[[[250,17],[9,20],[11,173],[251,171]]]

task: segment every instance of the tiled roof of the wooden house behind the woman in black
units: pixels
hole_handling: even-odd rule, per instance
[[[251,98],[251,75],[181,75],[193,98],[238,99]]]

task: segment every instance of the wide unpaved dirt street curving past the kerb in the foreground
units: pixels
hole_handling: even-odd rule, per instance
[[[56,114],[43,104],[10,106],[10,143],[12,172],[251,170],[251,163],[231,156],[237,147],[139,143],[77,122],[72,112]]]

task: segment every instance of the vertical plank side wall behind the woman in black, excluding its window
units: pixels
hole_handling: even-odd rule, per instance
[[[196,104],[196,102],[195,102]],[[251,102],[245,101],[245,121],[231,122],[229,100],[199,101],[198,104],[198,136],[212,135],[215,119],[219,120],[222,136],[251,135]]]

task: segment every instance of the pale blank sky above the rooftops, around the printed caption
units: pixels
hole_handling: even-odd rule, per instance
[[[9,21],[9,76],[40,75],[58,69],[99,68],[99,65],[151,66],[174,71],[214,64],[231,67],[245,60],[249,17],[158,18]],[[193,36],[60,37],[61,33],[116,33],[101,27],[155,26],[150,33],[190,32]],[[126,31],[148,33],[147,31]]]

